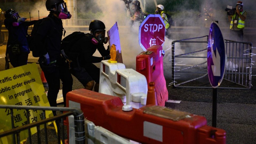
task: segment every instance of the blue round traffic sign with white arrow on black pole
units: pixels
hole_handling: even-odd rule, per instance
[[[226,61],[227,56],[221,30],[216,22],[212,22],[207,46],[207,70],[213,88],[217,88],[222,82]]]

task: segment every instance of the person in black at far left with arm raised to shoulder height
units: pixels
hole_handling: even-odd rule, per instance
[[[20,17],[18,12],[13,9],[5,12],[4,23],[9,32],[6,55],[9,55],[13,67],[26,65],[30,53],[26,39],[27,29],[36,21],[25,22],[25,20],[26,18]]]

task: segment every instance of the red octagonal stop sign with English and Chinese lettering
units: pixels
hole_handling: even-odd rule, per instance
[[[146,51],[165,42],[165,23],[160,14],[150,14],[139,26],[139,45]]]

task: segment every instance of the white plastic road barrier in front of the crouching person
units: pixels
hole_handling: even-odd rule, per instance
[[[133,69],[125,69],[123,63],[101,61],[99,93],[120,97],[126,105],[139,108],[146,104],[147,79]],[[142,98],[143,97],[143,98]],[[141,103],[141,100],[144,102]]]

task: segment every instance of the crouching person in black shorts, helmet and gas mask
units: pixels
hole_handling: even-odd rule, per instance
[[[107,43],[105,37],[105,24],[99,20],[91,21],[90,33],[74,32],[62,40],[62,48],[66,55],[72,60],[70,72],[85,87],[85,89],[99,91],[100,69],[93,63],[110,59],[109,47],[107,50],[103,43]],[[95,57],[93,54],[98,50],[102,57]],[[94,86],[94,81],[96,82]]]

